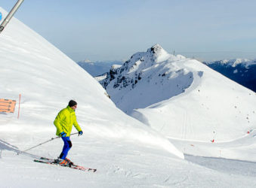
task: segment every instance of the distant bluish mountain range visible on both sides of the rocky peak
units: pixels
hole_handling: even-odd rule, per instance
[[[77,63],[91,76],[96,77],[98,81],[106,78],[107,75],[113,76],[118,71],[117,68],[124,64],[122,61],[91,62],[89,60]],[[203,63],[214,71],[256,92],[256,59],[224,59]],[[97,77],[100,75],[102,77]],[[106,80],[103,84],[106,84]]]

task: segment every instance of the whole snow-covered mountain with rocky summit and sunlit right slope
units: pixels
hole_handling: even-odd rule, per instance
[[[168,138],[230,141],[256,125],[254,92],[159,44],[101,83],[117,107]]]

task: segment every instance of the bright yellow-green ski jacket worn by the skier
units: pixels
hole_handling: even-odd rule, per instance
[[[54,120],[54,125],[57,128],[56,135],[60,135],[60,132],[66,132],[66,137],[70,136],[70,132],[72,131],[72,126],[76,127],[76,130],[82,131],[79,126],[79,123],[76,122],[76,114],[75,111],[67,106],[63,110],[57,114],[57,117]]]

